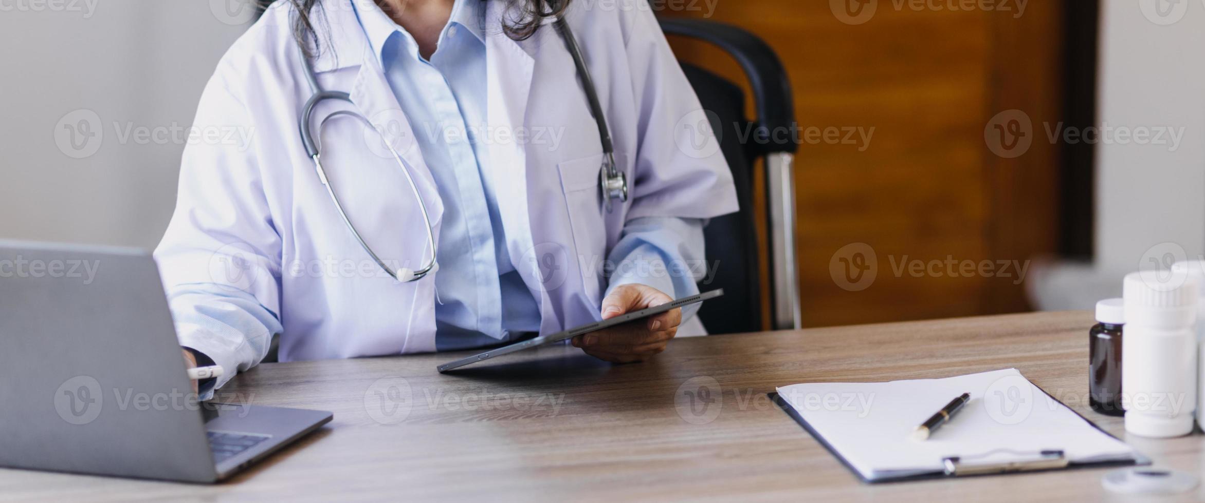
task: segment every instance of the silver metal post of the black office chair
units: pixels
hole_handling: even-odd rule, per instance
[[[799,304],[799,273],[795,271],[795,156],[787,152],[765,158],[769,200],[770,274],[775,330],[803,329]]]

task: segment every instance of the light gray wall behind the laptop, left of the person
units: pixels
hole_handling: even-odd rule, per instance
[[[0,238],[152,248],[187,141],[164,134],[192,124],[253,11],[241,0],[45,4],[0,12]]]

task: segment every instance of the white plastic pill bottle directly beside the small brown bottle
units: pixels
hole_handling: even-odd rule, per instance
[[[1197,278],[1135,272],[1125,276],[1122,290],[1125,431],[1156,438],[1192,433],[1198,378]]]

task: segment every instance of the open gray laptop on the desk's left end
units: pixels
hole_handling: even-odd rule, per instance
[[[148,253],[0,241],[0,467],[216,483],[333,416],[192,390]]]

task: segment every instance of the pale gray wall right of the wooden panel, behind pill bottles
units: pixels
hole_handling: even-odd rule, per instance
[[[1182,137],[1095,144],[1095,260],[1035,264],[1039,309],[1091,309],[1121,296],[1128,272],[1205,258],[1205,2],[1104,0],[1100,13],[1097,125]]]

